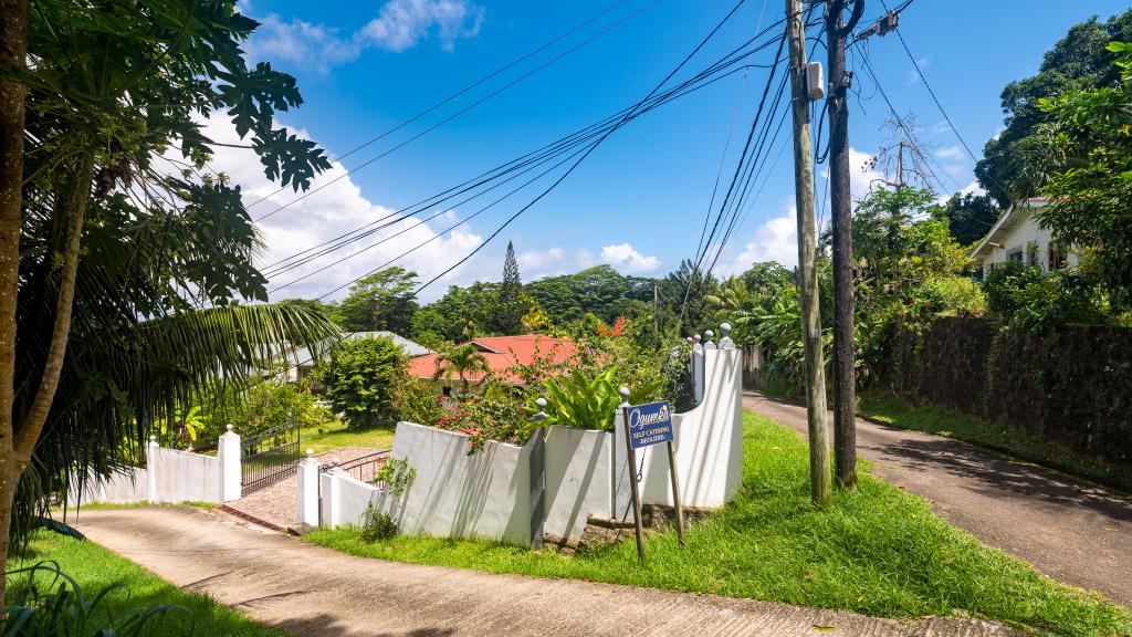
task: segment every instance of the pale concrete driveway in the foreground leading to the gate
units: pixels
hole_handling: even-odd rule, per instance
[[[93,541],[169,581],[302,636],[1012,635],[963,619],[901,625],[714,595],[355,558],[199,509],[91,510],[78,523]]]

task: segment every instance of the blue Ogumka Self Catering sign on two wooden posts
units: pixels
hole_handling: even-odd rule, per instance
[[[672,447],[672,407],[667,400],[646,405],[629,405],[629,390],[621,388],[621,416],[625,421],[625,451],[628,459],[629,492],[633,496],[633,526],[636,530],[637,557],[644,560],[644,528],[641,526],[641,487],[637,485],[636,450],[664,442],[668,444],[668,467],[676,506],[676,535],[684,545],[684,510],[680,507],[680,483],[676,475],[676,449]]]

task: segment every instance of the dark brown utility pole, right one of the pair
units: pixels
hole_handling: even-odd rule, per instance
[[[829,0],[830,216],[833,220],[833,465],[838,484],[857,485],[857,357],[854,349],[852,199],[849,190],[849,84],[846,36],[857,26],[865,0],[856,0],[842,24],[846,0]]]

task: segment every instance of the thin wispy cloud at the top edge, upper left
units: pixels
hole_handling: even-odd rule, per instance
[[[352,34],[269,14],[257,18],[261,24],[245,50],[251,59],[281,59],[326,71],[366,49],[405,51],[434,32],[440,48],[452,51],[456,40],[479,34],[483,14],[470,0],[388,0],[376,18]]]

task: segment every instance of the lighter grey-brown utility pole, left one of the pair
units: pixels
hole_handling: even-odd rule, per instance
[[[801,0],[786,0],[790,41],[790,110],[794,116],[794,187],[798,206],[798,287],[806,343],[806,416],[809,426],[809,492],[815,504],[827,506],[830,486],[829,427],[825,414],[825,364],[817,296],[817,237],[814,221],[814,155],[809,141],[809,96],[806,86],[806,28]]]

